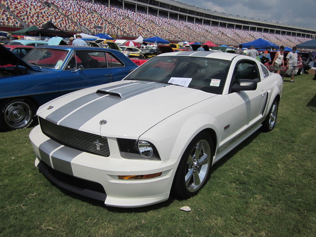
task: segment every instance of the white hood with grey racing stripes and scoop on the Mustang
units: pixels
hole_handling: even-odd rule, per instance
[[[59,97],[41,106],[38,116],[93,134],[137,139],[163,119],[213,96],[177,85],[122,80]]]

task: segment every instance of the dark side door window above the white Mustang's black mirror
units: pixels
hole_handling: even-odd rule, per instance
[[[238,63],[235,69],[234,76],[235,76],[236,82],[239,79],[250,79],[250,80],[255,80],[257,82],[260,81],[258,68],[256,64],[252,62]]]

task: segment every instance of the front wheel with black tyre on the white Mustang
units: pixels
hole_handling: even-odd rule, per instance
[[[172,195],[180,199],[196,195],[209,176],[212,161],[212,139],[207,133],[199,133],[181,158],[173,181]]]

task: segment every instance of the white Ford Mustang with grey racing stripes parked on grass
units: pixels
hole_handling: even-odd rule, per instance
[[[158,55],[125,79],[38,110],[35,165],[57,186],[118,207],[189,198],[212,165],[276,124],[283,82],[248,56]]]

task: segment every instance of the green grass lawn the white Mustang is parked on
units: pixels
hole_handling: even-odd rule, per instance
[[[316,236],[313,77],[284,78],[276,128],[220,160],[197,196],[149,207],[111,208],[61,191],[34,166],[31,129],[0,133],[0,236]]]

